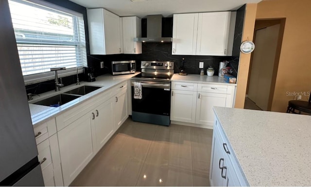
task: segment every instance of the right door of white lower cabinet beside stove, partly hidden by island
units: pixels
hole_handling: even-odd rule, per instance
[[[213,106],[225,107],[227,94],[198,92],[195,123],[213,126]]]

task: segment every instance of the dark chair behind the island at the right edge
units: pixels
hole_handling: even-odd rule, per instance
[[[297,111],[297,112],[296,112]],[[298,113],[311,115],[311,94],[309,101],[291,100],[288,101],[287,113]]]

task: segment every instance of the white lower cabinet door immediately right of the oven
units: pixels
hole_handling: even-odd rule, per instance
[[[171,120],[194,123],[196,96],[197,92],[172,90]]]

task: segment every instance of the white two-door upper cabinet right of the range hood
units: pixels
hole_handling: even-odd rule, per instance
[[[173,55],[231,56],[235,12],[173,15]]]

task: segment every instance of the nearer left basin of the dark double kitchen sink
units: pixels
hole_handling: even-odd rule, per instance
[[[81,95],[70,95],[70,94],[61,93],[61,94],[43,99],[41,101],[35,102],[34,104],[44,105],[44,106],[49,106],[49,107],[59,107],[78,97],[81,97]]]

